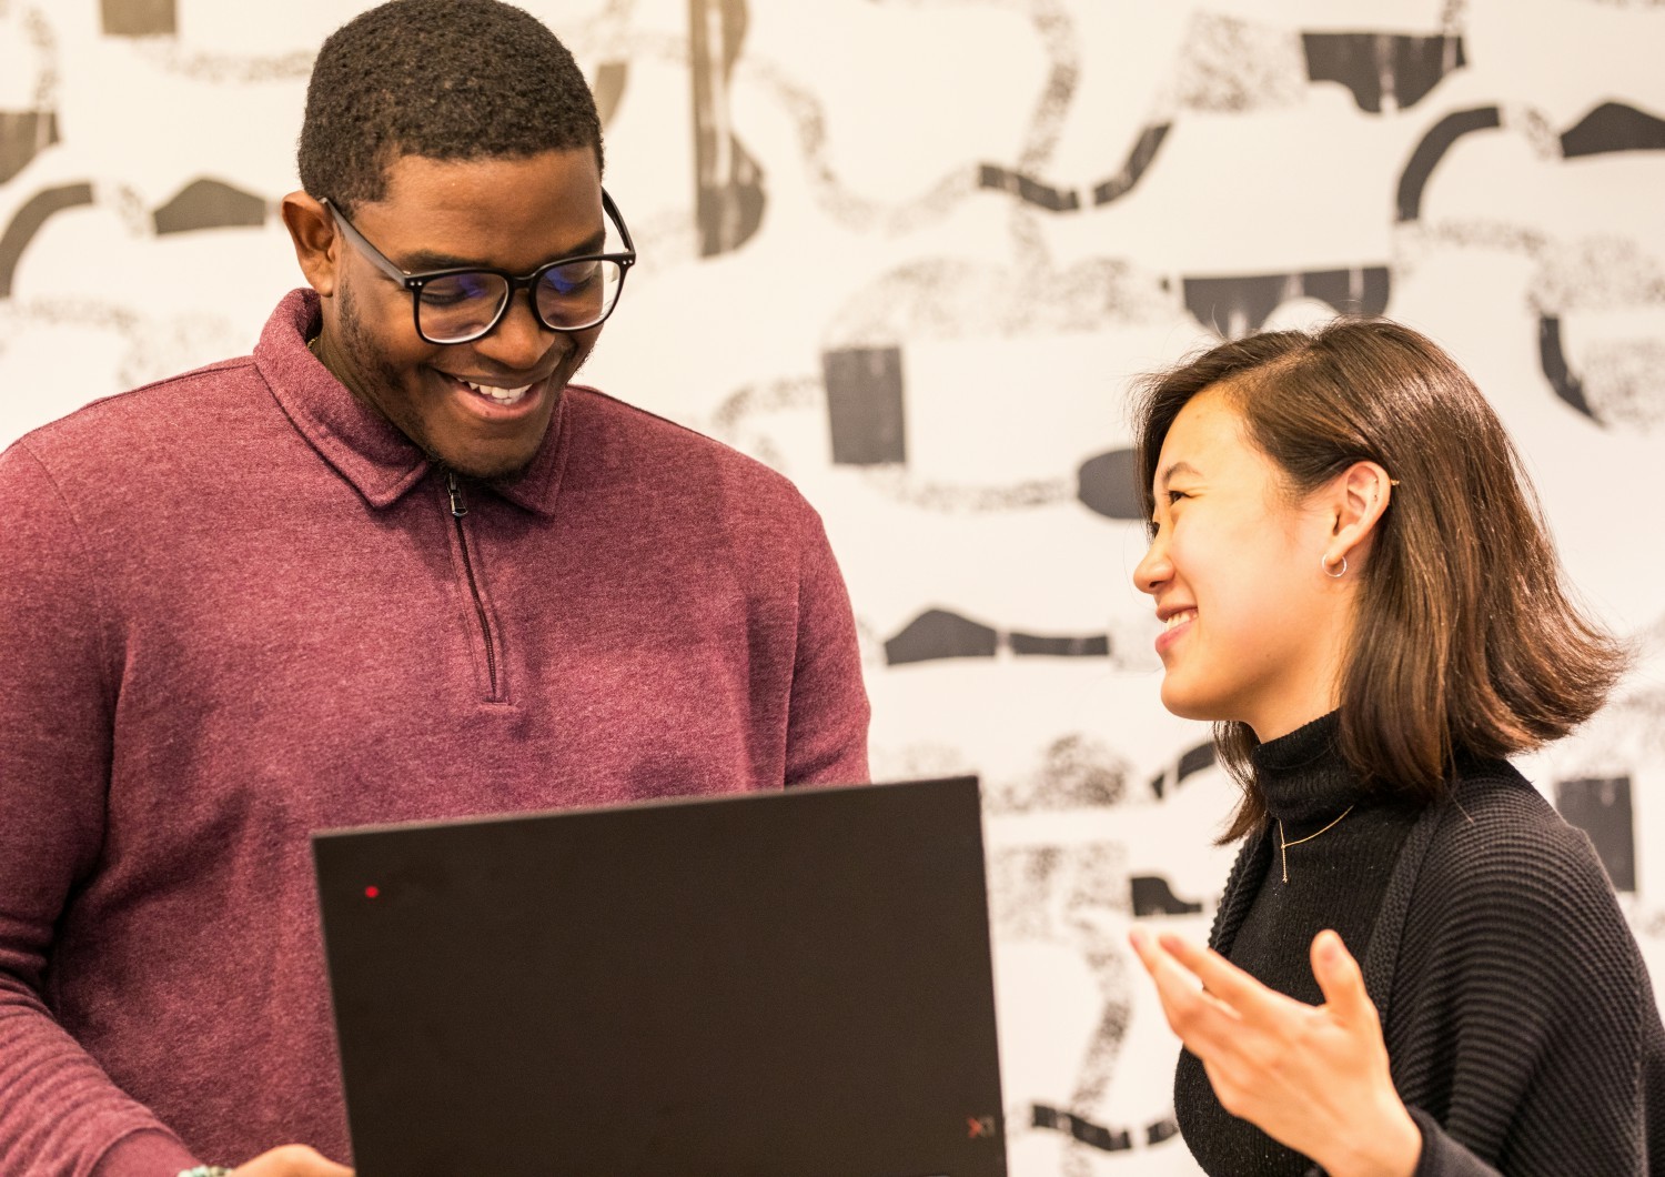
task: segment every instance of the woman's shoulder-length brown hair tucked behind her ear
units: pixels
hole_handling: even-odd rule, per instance
[[[1623,648],[1568,598],[1508,435],[1432,340],[1379,318],[1222,343],[1136,390],[1147,518],[1180,408],[1227,385],[1249,438],[1310,493],[1355,461],[1397,481],[1374,531],[1340,681],[1340,751],[1369,782],[1430,804],[1459,756],[1502,757],[1565,736],[1607,699]],[[1355,561],[1355,566],[1359,561]],[[1244,786],[1222,841],[1265,802],[1254,731],[1215,724]]]

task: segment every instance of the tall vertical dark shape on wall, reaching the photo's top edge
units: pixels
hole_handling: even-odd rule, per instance
[[[699,256],[731,253],[763,223],[763,165],[734,137],[729,80],[746,40],[746,0],[688,0],[694,88],[694,220]]]

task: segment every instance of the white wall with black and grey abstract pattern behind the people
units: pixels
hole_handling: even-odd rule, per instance
[[[0,0],[0,444],[251,346],[300,283],[273,208],[311,53],[365,7]],[[1665,3],[524,7],[596,80],[644,258],[586,380],[793,476],[862,624],[876,771],[984,777],[1016,1174],[1195,1172],[1124,934],[1204,934],[1230,789],[1157,703],[1102,456],[1132,375],[1330,313],[1302,275],[1469,366],[1637,639],[1618,701],[1523,767],[1617,874],[1628,847],[1665,979]],[[962,621],[904,634],[932,609]]]

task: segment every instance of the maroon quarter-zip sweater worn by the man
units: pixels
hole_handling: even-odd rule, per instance
[[[573,386],[453,489],[316,318],[0,454],[7,1177],[346,1159],[311,831],[867,779],[784,478]]]

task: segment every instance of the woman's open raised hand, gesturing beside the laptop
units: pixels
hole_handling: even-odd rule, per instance
[[[1394,1090],[1382,1022],[1340,936],[1312,941],[1322,1006],[1267,989],[1179,936],[1136,927],[1131,939],[1220,1107],[1335,1177],[1415,1172],[1422,1132]]]

